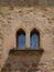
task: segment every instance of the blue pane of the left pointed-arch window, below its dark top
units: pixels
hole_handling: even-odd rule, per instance
[[[23,50],[25,47],[25,35],[24,34],[19,34],[18,35],[18,49]]]

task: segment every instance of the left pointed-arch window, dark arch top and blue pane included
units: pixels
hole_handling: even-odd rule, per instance
[[[17,32],[17,48],[19,50],[23,50],[25,48],[25,32],[22,29]]]

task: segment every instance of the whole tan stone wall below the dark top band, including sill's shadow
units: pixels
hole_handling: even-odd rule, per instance
[[[23,29],[28,40],[34,28],[40,32],[42,56],[37,51],[32,56],[10,53],[17,48],[17,31]],[[0,72],[54,72],[54,7],[0,6]]]

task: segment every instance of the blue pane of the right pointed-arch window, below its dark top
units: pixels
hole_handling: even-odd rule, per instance
[[[31,49],[37,49],[39,48],[39,35],[32,34],[31,35]]]

